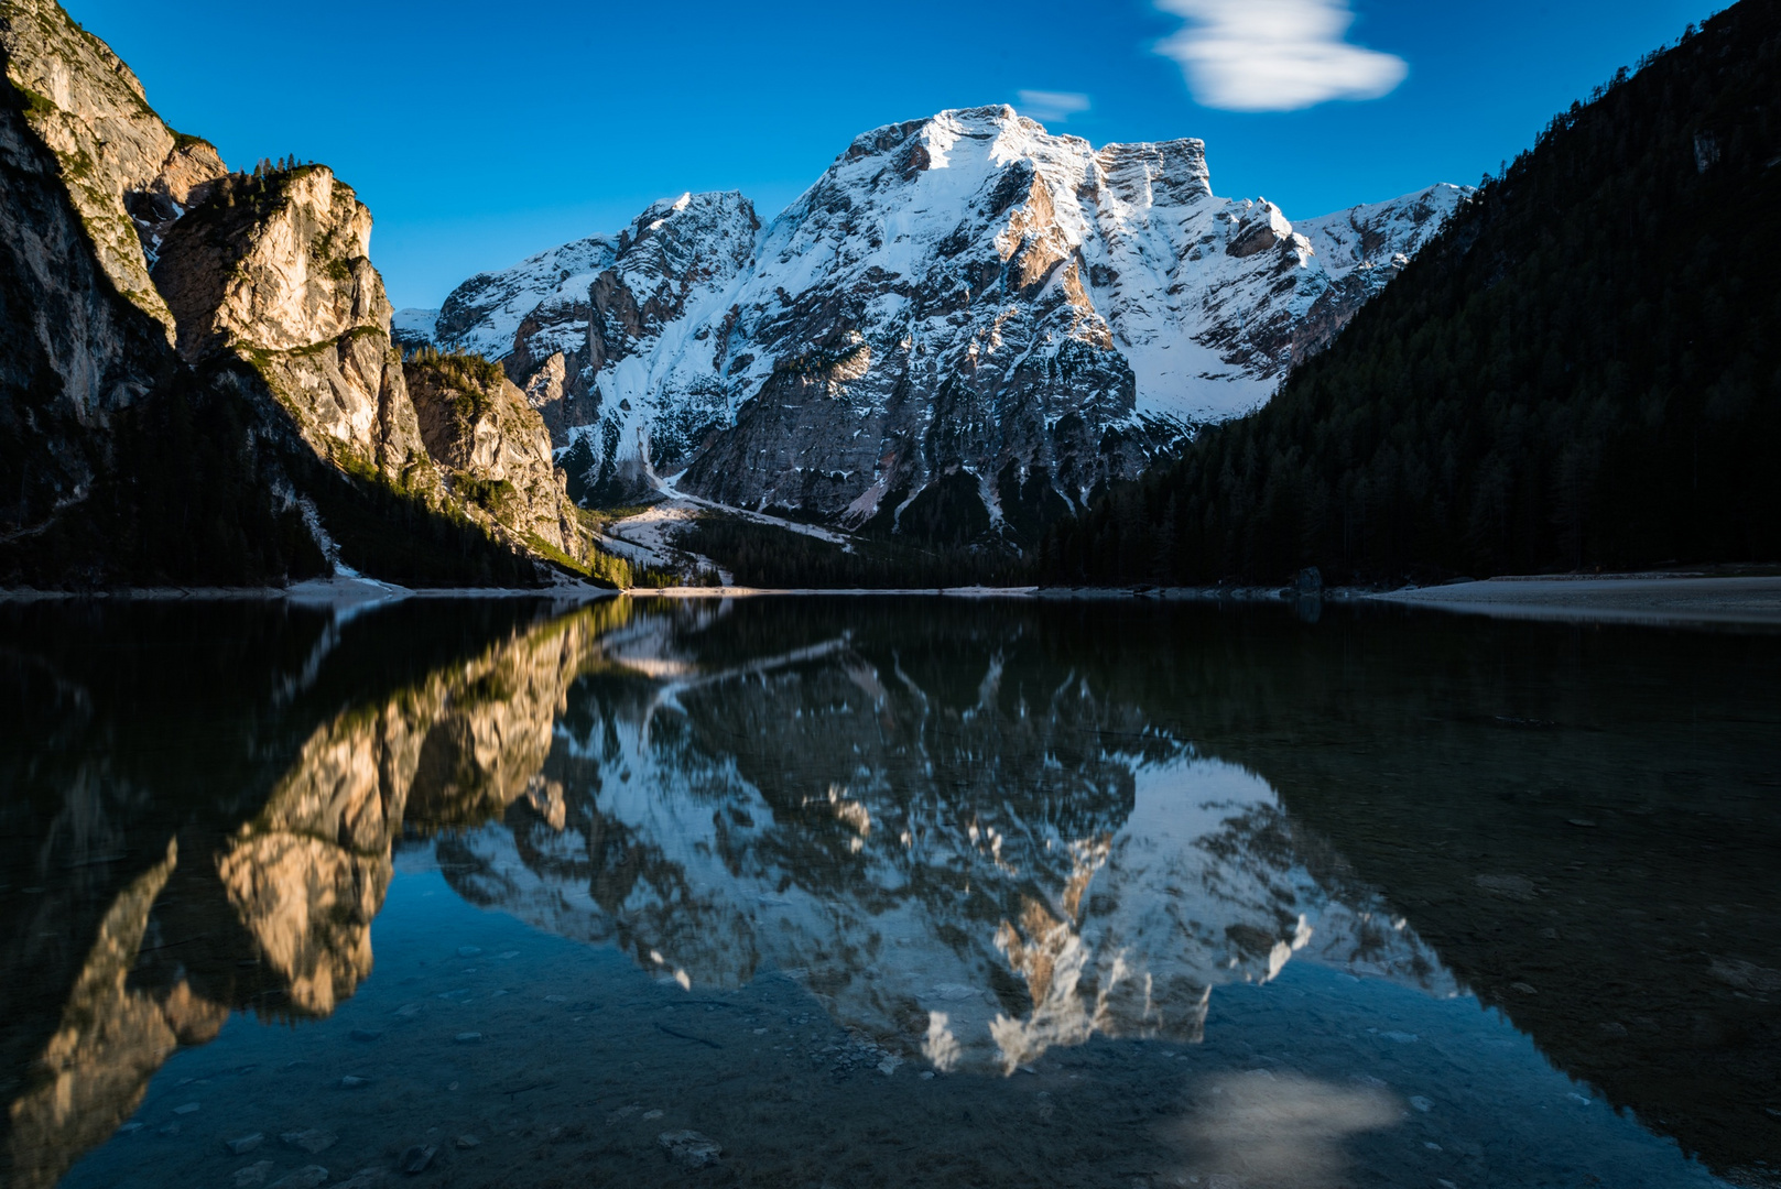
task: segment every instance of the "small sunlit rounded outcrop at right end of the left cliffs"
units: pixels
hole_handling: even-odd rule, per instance
[[[522,541],[581,559],[586,534],[525,393],[479,356],[422,351],[403,365],[420,438],[452,493]]]

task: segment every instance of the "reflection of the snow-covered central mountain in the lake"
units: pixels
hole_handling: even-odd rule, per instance
[[[782,970],[942,1070],[1193,1041],[1215,986],[1295,954],[1453,990],[1311,874],[1261,778],[1019,627],[757,650],[746,627],[707,603],[609,635],[630,675],[570,691],[547,812],[442,838],[447,879],[686,988]]]

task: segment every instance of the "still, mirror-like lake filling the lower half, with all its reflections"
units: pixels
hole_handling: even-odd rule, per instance
[[[1781,637],[0,607],[4,1184],[1776,1185]]]

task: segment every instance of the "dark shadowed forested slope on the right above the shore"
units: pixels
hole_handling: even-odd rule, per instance
[[[1781,557],[1781,11],[1573,105],[1252,417],[1063,523],[1051,582]]]

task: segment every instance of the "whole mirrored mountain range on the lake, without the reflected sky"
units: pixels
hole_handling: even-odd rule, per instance
[[[5,1184],[232,1013],[333,1013],[403,849],[686,988],[789,975],[889,1070],[1190,1043],[1305,959],[1466,990],[1754,1168],[1777,653],[1142,603],[0,607]],[[1304,1091],[1341,1121],[1305,1152],[1375,1125],[1343,1093]],[[1184,1143],[1247,1145],[1240,1098]]]

